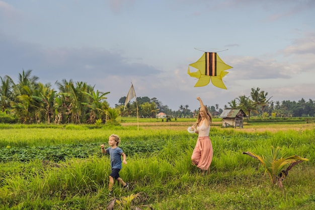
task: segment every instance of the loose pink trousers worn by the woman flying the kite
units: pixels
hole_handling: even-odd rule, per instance
[[[213,150],[209,136],[199,136],[191,160],[201,170],[208,170],[212,161]]]

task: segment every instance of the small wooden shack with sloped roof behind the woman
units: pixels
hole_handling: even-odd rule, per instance
[[[223,127],[243,128],[243,118],[247,117],[242,109],[224,109],[219,116]]]

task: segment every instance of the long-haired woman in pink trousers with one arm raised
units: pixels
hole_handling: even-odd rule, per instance
[[[204,172],[209,171],[212,161],[213,150],[211,140],[209,138],[210,124],[212,121],[211,114],[207,107],[203,105],[200,97],[197,97],[200,102],[200,109],[197,122],[192,126],[195,132],[198,133],[198,140],[191,156],[192,163]]]

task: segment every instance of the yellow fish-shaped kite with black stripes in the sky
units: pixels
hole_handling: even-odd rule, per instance
[[[199,79],[195,87],[206,86],[211,80],[214,86],[226,89],[222,78],[228,74],[225,70],[232,66],[225,64],[216,52],[205,52],[199,60],[189,65],[198,69],[197,72],[191,73],[188,66],[190,77]]]

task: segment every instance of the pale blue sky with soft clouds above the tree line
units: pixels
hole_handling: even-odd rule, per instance
[[[233,67],[227,90],[194,87],[195,48],[228,49],[218,53]],[[272,101],[315,100],[314,66],[312,0],[0,0],[1,77],[32,69],[44,84],[87,82],[110,92],[111,107],[131,82],[137,97],[173,110],[197,109],[197,96],[223,109],[252,88]]]

